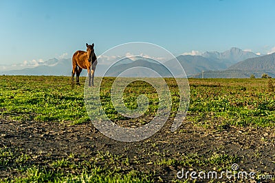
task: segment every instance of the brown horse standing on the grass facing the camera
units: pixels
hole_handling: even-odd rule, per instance
[[[86,43],[87,51],[76,51],[72,58],[73,71],[72,71],[72,86],[74,86],[74,73],[76,73],[76,84],[79,84],[79,75],[82,69],[87,69],[89,75],[89,86],[94,86],[94,71],[96,70],[96,53],[94,53],[94,43],[88,45]],[[92,78],[92,80],[91,80]]]

